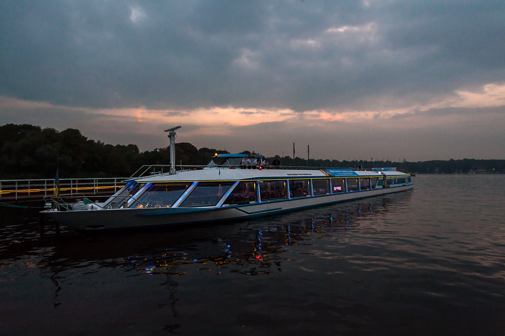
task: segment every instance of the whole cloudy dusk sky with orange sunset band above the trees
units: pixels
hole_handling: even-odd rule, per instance
[[[505,2],[0,2],[0,125],[107,143],[505,157]]]

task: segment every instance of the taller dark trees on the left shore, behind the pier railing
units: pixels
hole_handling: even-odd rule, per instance
[[[215,153],[228,152],[175,144],[175,158],[182,164],[205,165]],[[59,132],[28,124],[0,126],[0,179],[48,178],[57,169],[60,178],[128,177],[151,164],[170,164],[170,150],[140,152],[136,145],[108,145],[73,128]]]

